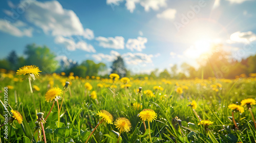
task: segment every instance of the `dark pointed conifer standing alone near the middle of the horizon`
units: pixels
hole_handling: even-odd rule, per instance
[[[111,73],[118,74],[120,77],[126,76],[127,70],[125,68],[123,58],[121,56],[118,56],[117,59],[113,61],[111,69]]]

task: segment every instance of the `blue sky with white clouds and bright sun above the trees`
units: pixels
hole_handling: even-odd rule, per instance
[[[256,52],[256,1],[1,1],[0,58],[47,45],[57,59],[109,67],[117,55],[133,73],[198,67],[210,45],[241,59]]]

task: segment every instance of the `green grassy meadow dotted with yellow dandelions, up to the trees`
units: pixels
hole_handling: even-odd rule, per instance
[[[80,78],[72,73],[41,74],[35,76],[36,80],[31,79],[33,93],[30,79],[23,80],[24,77],[17,76],[16,71],[1,69],[0,123],[5,122],[6,110],[12,123],[8,124],[7,138],[5,126],[0,128],[0,142],[44,142],[45,139],[46,142],[86,142],[98,124],[88,142],[118,142],[120,131],[119,142],[256,140],[252,116],[256,115],[255,74],[240,75],[232,80]],[[53,89],[61,89],[60,99],[46,97],[51,89],[52,93]],[[8,103],[5,102],[6,94]],[[241,105],[245,99],[248,100]],[[17,112],[11,110],[23,116],[21,124],[20,118],[12,117]],[[38,112],[44,113],[46,118],[50,110],[46,121],[38,118]],[[156,114],[143,118],[142,110]],[[111,113],[113,119],[105,111]],[[118,117],[127,118],[131,125],[125,120],[124,130],[117,128]],[[41,123],[44,131],[41,131]]]

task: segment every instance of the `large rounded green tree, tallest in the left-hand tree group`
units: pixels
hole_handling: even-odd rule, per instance
[[[36,65],[42,72],[53,73],[58,68],[58,61],[54,53],[51,53],[46,45],[38,46],[29,44],[26,46],[25,55],[27,55],[26,64]]]

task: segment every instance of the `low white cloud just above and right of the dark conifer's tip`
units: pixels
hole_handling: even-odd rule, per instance
[[[124,61],[127,64],[133,64],[133,65],[138,65],[138,64],[144,64],[144,63],[152,63],[152,57],[153,55],[147,55],[144,53],[125,53],[122,54],[122,57]]]

